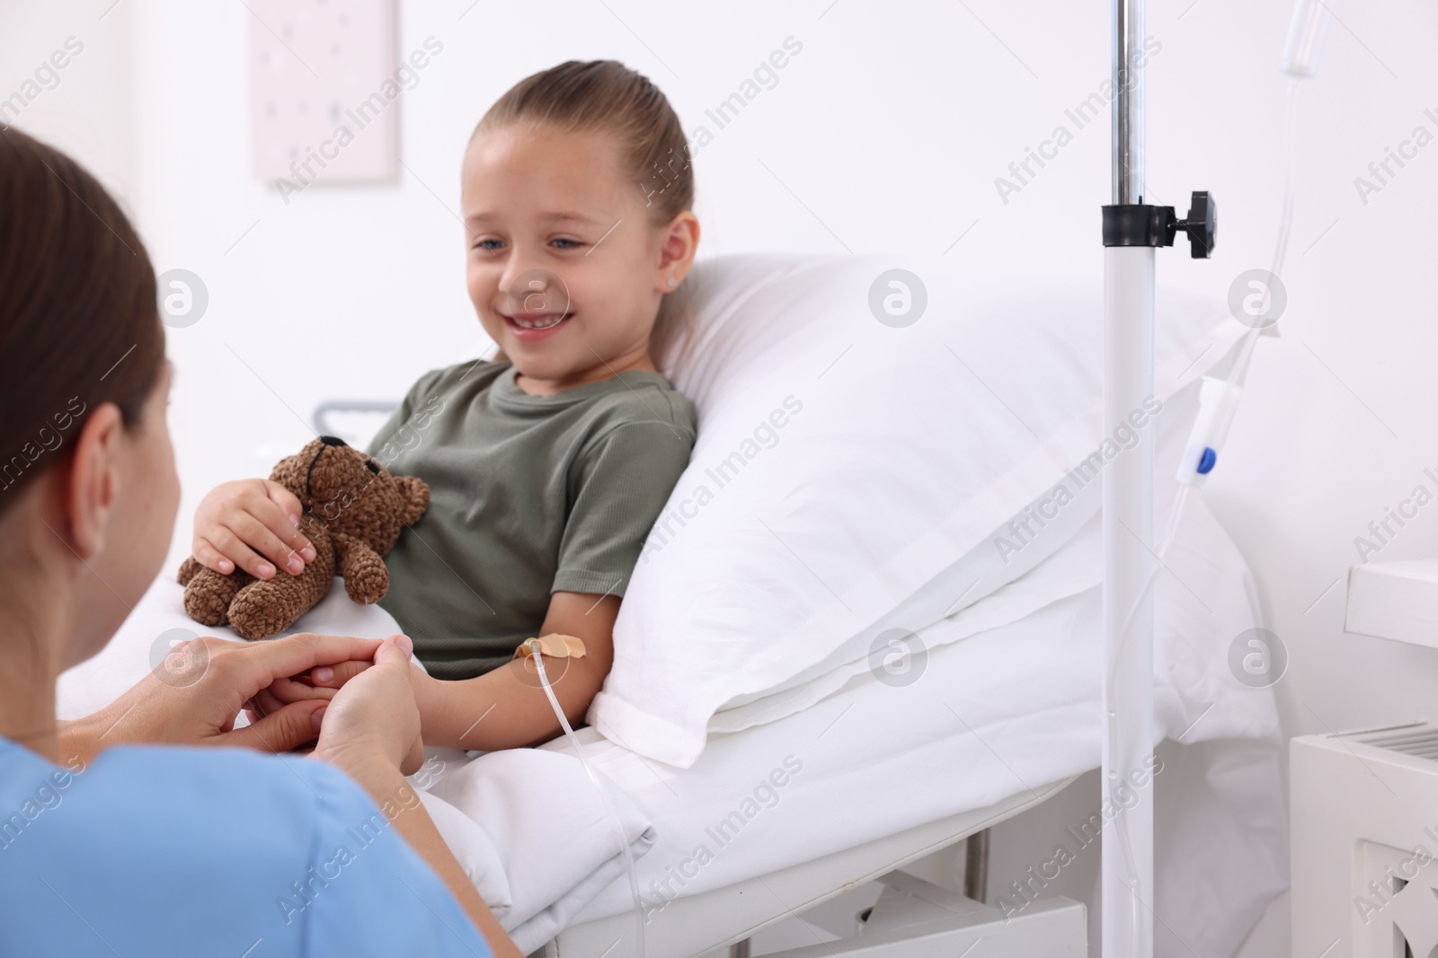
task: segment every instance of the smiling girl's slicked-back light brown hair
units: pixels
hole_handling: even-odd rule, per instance
[[[689,141],[674,108],[649,78],[617,60],[569,60],[526,76],[495,101],[475,134],[516,122],[551,124],[567,132],[613,134],[656,225],[695,205]],[[661,369],[687,312],[689,296],[686,279],[660,300],[649,349]],[[503,359],[503,353],[498,358]]]

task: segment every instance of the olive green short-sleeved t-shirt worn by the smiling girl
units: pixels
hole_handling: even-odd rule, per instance
[[[623,596],[689,464],[695,411],[657,372],[532,396],[485,361],[420,378],[370,442],[430,507],[385,557],[381,605],[431,675],[503,665],[552,592]]]

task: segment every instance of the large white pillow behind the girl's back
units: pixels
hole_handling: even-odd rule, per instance
[[[907,326],[883,302],[905,289],[877,282],[896,266],[923,287],[899,277],[909,317],[926,300]],[[1100,428],[1096,280],[738,256],[702,263],[692,282],[693,319],[666,372],[699,411],[699,440],[634,570],[588,715],[679,767],[718,711],[810,684],[886,628],[958,613],[1057,552],[1093,516],[1100,481],[1063,504],[1055,485],[1077,490],[1068,470],[1096,450],[1122,454],[1129,435]],[[1244,332],[1221,300],[1160,289],[1158,312],[1155,406]],[[1043,529],[1004,533],[1045,497]],[[1004,608],[988,625],[1025,613]],[[774,707],[782,697],[748,711],[772,721],[805,699],[791,698],[788,711]]]

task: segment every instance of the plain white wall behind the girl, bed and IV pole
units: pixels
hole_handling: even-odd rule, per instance
[[[1035,277],[1100,283],[1106,121],[1007,205],[994,178],[1107,76],[1106,1],[404,3],[398,52],[429,34],[444,43],[401,103],[408,171],[288,207],[249,175],[246,7],[122,0],[98,20],[106,6],[0,7],[0,95],[81,36],[85,55],[20,125],[125,195],[158,269],[209,284],[209,315],[170,335],[186,480],[174,559],[198,494],[303,441],[316,401],[398,396],[424,369],[486,348],[462,286],[460,149],[495,96],[564,59],[626,60],[696,128],[787,36],[802,42],[779,85],[699,154],[705,254],[933,254],[976,221],[946,254],[955,269],[1021,261]],[[1288,315],[1260,345],[1206,491],[1288,646],[1277,691],[1293,734],[1438,711],[1438,655],[1345,635],[1343,585],[1327,590],[1369,520],[1418,483],[1435,488],[1422,468],[1438,467],[1438,144],[1366,204],[1353,178],[1415,125],[1438,134],[1422,112],[1438,115],[1438,9],[1330,6],[1342,24],[1301,93]],[[1221,204],[1217,257],[1163,253],[1160,279],[1221,296],[1271,256],[1290,7],[1149,7],[1163,45],[1149,68],[1149,198],[1183,211],[1189,190],[1208,188]],[[1438,554],[1438,506],[1378,557],[1424,554]]]

